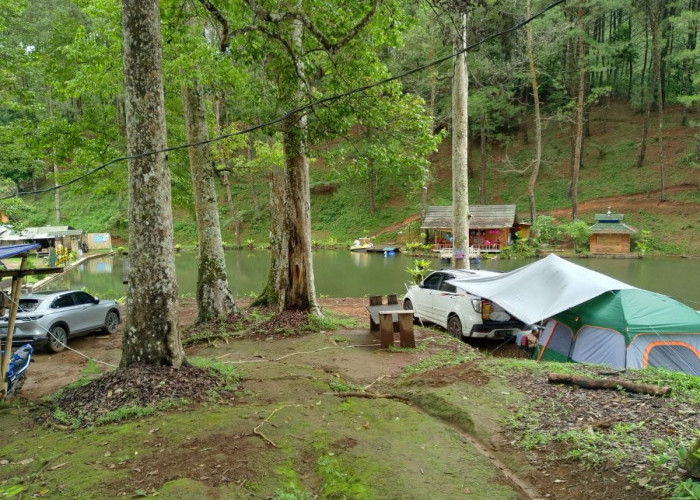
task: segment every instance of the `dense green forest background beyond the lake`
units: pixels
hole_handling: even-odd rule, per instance
[[[3,212],[19,225],[69,224],[127,241],[126,162],[103,167],[125,152],[118,3],[0,4]],[[242,5],[220,8],[240,19]],[[304,5],[322,11],[329,26],[342,22],[342,9]],[[353,5],[377,10],[356,48],[350,43],[335,60],[306,53],[310,102],[446,60],[310,109],[312,238],[342,244],[390,227],[381,238],[417,240],[425,206],[451,203],[451,20],[439,2]],[[545,5],[534,2],[532,11]],[[531,24],[543,130],[537,213],[570,219],[575,185],[576,215],[584,220],[611,206],[651,231],[652,251],[700,254],[699,5],[572,1]],[[207,1],[164,1],[161,11],[168,143],[187,142],[181,89],[196,81],[211,136],[229,136],[213,143],[223,238],[232,246],[265,245],[282,144],[274,126],[256,127],[290,111],[279,95],[287,76],[276,72],[273,57],[284,47],[244,37],[250,19],[222,25]],[[468,43],[526,17],[523,1],[475,3]],[[525,28],[468,56],[470,201],[515,203],[523,218],[536,157],[528,56]],[[574,181],[579,105],[583,151]],[[256,130],[240,133],[249,128]],[[196,244],[187,149],[171,151],[168,164],[176,241]],[[18,191],[30,194],[11,197]]]

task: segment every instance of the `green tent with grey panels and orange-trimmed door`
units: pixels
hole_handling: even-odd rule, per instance
[[[700,313],[648,290],[608,291],[549,319],[535,356],[700,376]]]

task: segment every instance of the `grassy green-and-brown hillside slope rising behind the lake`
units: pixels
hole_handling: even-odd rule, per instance
[[[691,117],[696,118],[697,117]],[[663,156],[656,137],[657,122],[652,116],[647,161],[636,168],[642,116],[630,111],[625,103],[596,107],[591,112],[591,136],[586,138],[584,164],[579,182],[579,215],[592,221],[595,213],[612,207],[625,214],[625,220],[638,229],[652,232],[659,252],[700,255],[700,169],[691,161],[695,148],[695,129],[682,127],[679,109],[669,108],[664,114]],[[486,203],[515,203],[519,214],[529,217],[527,182],[529,162],[534,157],[533,127],[528,127],[529,142],[522,132],[510,137],[507,144],[492,144],[488,151]],[[570,217],[569,160],[571,130],[568,124],[548,120],[544,128],[543,165],[537,183],[538,213]],[[481,154],[478,141],[472,142],[470,164],[470,202],[479,203],[478,171]],[[450,141],[444,141],[433,155],[435,180],[429,198],[434,205],[451,202]],[[659,201],[660,169],[666,170],[666,198]],[[126,167],[120,167],[126,172]],[[323,166],[312,166],[311,182],[336,181]],[[269,218],[267,179],[259,176],[238,179],[233,187],[239,216],[243,221],[242,240],[256,244],[267,242]],[[377,211],[368,209],[365,183],[335,182],[337,190],[326,190],[312,196],[312,238],[326,243],[345,243],[358,236],[378,235],[379,241],[417,240],[420,222],[420,194],[393,187],[392,179],[380,179],[376,189]],[[253,191],[254,190],[254,191]],[[319,190],[323,191],[323,190]],[[234,241],[232,219],[220,193],[223,238]],[[187,193],[175,193],[176,240],[184,245],[196,242],[196,226]],[[254,199],[258,201],[255,209]],[[31,200],[27,200],[31,201]],[[53,196],[44,195],[35,202],[36,215],[29,225],[54,224]],[[62,191],[63,223],[89,231],[110,231],[127,239],[126,215],[118,210],[117,196],[94,196],[88,186]],[[387,230],[387,228],[389,230]]]

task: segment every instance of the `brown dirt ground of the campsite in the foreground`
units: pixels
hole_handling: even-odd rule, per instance
[[[365,325],[366,300],[324,298],[320,302],[323,308],[356,318],[358,325]],[[180,316],[183,328],[191,325],[195,317],[194,301],[183,300]],[[493,402],[479,398],[505,398],[505,401],[509,401],[512,390],[520,391],[525,398],[539,398],[546,393],[551,398],[547,404],[552,408],[563,405],[568,410],[563,413],[567,415],[566,418],[559,419],[558,416],[562,415],[560,412],[553,413],[557,417],[549,419],[551,421],[543,418],[543,426],[585,429],[586,426],[596,428],[599,425],[612,426],[618,422],[646,422],[649,431],[645,439],[649,442],[687,432],[688,428],[697,428],[700,423],[697,409],[668,405],[652,398],[629,398],[617,391],[584,391],[566,387],[552,389],[552,386],[547,387],[546,381],[541,377],[524,374],[509,381],[500,380],[501,377],[489,374],[480,367],[476,361],[478,357],[474,361],[441,367],[420,376],[407,379],[401,377],[408,365],[429,358],[436,349],[444,349],[445,344],[441,340],[444,337],[439,331],[417,325],[417,341],[427,347],[415,352],[378,350],[377,339],[365,328],[292,338],[261,336],[234,341],[228,345],[189,347],[188,357],[216,358],[224,363],[240,363],[238,366],[244,367],[246,374],[242,382],[243,390],[239,391],[233,405],[245,409],[235,420],[238,424],[227,417],[227,423],[222,428],[212,428],[198,437],[190,436],[192,433],[188,432],[183,440],[181,433],[166,436],[166,424],[158,425],[156,419],[145,426],[137,424],[130,431],[135,433],[134,439],[142,443],[141,446],[167,451],[158,455],[156,462],[152,457],[147,459],[145,455],[142,459],[111,460],[110,456],[116,456],[116,452],[98,450],[98,453],[104,453],[104,457],[97,455],[97,458],[87,463],[96,470],[109,468],[126,474],[126,479],[118,480],[111,486],[119,496],[133,495],[136,490],[147,494],[157,492],[163,498],[272,498],[258,496],[253,490],[247,489],[246,484],[267,478],[266,470],[284,469],[289,459],[281,457],[281,449],[286,449],[289,445],[287,441],[284,441],[287,443],[284,446],[279,443],[291,439],[307,448],[292,461],[295,463],[295,473],[300,474],[305,488],[320,492],[320,496],[314,498],[372,498],[366,494],[353,493],[356,486],[353,484],[344,484],[341,496],[321,491],[323,481],[318,477],[317,469],[322,458],[312,456],[308,443],[312,436],[307,435],[306,431],[294,430],[295,423],[299,425],[301,421],[312,419],[310,425],[317,428],[317,432],[328,428],[331,435],[344,436],[327,444],[329,448],[324,452],[327,453],[324,457],[376,454],[376,447],[387,446],[387,440],[391,439],[389,447],[384,448],[385,460],[403,461],[402,470],[396,472],[395,492],[375,492],[376,498],[451,499],[462,496],[486,500],[653,500],[668,497],[667,492],[654,489],[656,486],[650,479],[654,471],[644,463],[645,457],[628,456],[616,466],[586,469],[573,458],[562,458],[566,453],[564,443],[531,450],[516,446],[517,434],[501,428],[499,422],[508,414],[517,415],[521,400],[510,400],[496,415],[493,413]],[[121,338],[120,329],[112,336],[91,335],[71,341],[70,347],[77,352],[64,351],[55,355],[37,353],[36,362],[30,367],[27,382],[22,389],[22,397],[37,400],[50,394],[78,380],[81,373],[90,369],[92,364],[103,370],[118,365]],[[502,342],[482,341],[473,347],[491,352],[494,356],[523,356],[516,346],[504,345]],[[457,349],[463,349],[465,353],[473,352],[463,344]],[[353,417],[349,413],[340,415],[338,421],[334,420],[338,415],[332,412],[315,413],[315,408],[327,408],[328,398],[335,397],[328,395],[327,387],[317,387],[319,374],[321,378],[361,387],[370,395],[379,394],[379,399],[371,399],[372,406]],[[465,381],[468,381],[467,386]],[[509,385],[502,385],[506,382]],[[324,387],[326,383],[323,384]],[[364,397],[356,391],[346,390],[354,398]],[[385,396],[381,395],[388,395],[386,397],[389,402],[382,399]],[[385,406],[393,398],[410,401],[407,408],[416,407],[420,410],[416,414],[407,412],[408,410],[397,410],[395,406]],[[469,415],[464,410],[465,402]],[[264,415],[259,415],[262,409],[255,410],[256,407],[270,406],[274,410]],[[373,411],[379,413],[374,414]],[[285,416],[278,416],[278,412]],[[413,421],[418,418],[421,420]],[[385,425],[384,419],[391,426],[387,428],[388,434],[384,438],[380,435],[379,441],[371,442],[372,451],[364,449],[370,441],[365,443],[360,437],[363,429],[379,429]],[[415,436],[405,436],[409,438],[408,442],[401,440],[396,431],[398,424],[391,423],[395,420],[402,421],[402,428],[415,426]],[[248,421],[251,423],[246,423]],[[663,425],[659,425],[660,422]],[[241,423],[243,427],[240,427]],[[253,432],[245,430],[255,424],[257,426]],[[349,429],[348,424],[350,427],[356,426],[353,431],[355,434],[345,435]],[[198,421],[197,425],[204,427],[213,424]],[[457,448],[453,440],[442,441],[446,436],[445,426],[457,432],[461,443]],[[408,449],[409,446],[414,446],[415,442],[422,443],[424,433],[425,437],[431,437],[422,444],[422,454],[416,455],[415,452],[404,450],[404,447]],[[108,431],[100,434],[103,436],[100,439],[104,441],[100,446],[118,446],[108,444]],[[431,442],[437,448],[434,452],[437,455],[433,458],[429,448],[426,448],[429,446],[427,443]],[[79,446],[79,443],[71,446]],[[624,450],[622,453],[624,455]],[[3,458],[1,452],[0,458]],[[440,463],[437,470],[431,471],[435,469],[434,465],[429,466],[432,460]],[[0,460],[0,464],[2,462]],[[480,467],[485,467],[483,472],[478,472]],[[42,469],[46,469],[46,466]],[[404,477],[403,474],[410,470],[414,471],[413,475]],[[637,471],[636,476],[641,479],[630,482],[628,474],[631,470]],[[0,466],[0,479],[2,474]],[[44,470],[35,474],[41,478],[42,474],[47,473]],[[483,479],[475,479],[482,476]],[[49,479],[45,481],[50,483]],[[329,480],[325,478],[324,481],[328,484]],[[486,492],[480,489],[483,485],[477,485],[477,482],[481,484],[484,481],[487,483]],[[388,484],[391,485],[392,481]],[[194,489],[189,490],[190,487]],[[425,493],[423,488],[427,488],[425,491],[430,493]],[[399,491],[403,493],[398,493]]]

